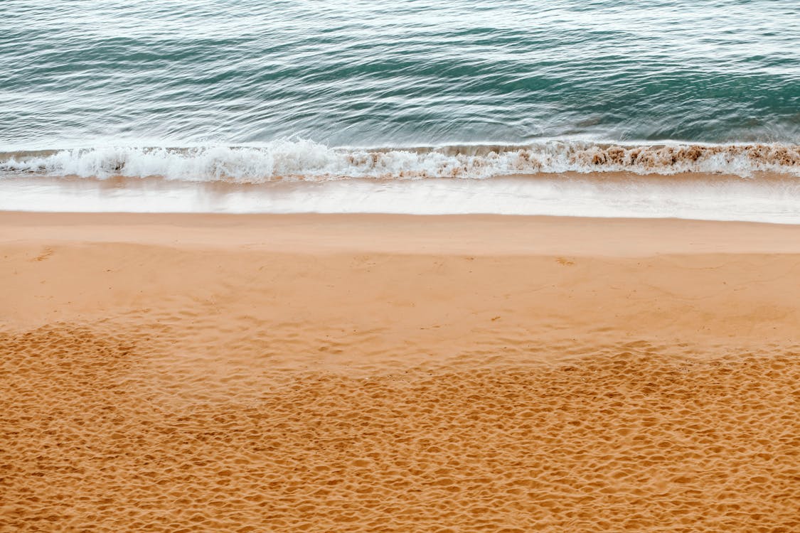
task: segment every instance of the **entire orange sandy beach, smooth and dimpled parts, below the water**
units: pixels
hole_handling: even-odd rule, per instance
[[[0,213],[2,531],[800,531],[800,226]]]

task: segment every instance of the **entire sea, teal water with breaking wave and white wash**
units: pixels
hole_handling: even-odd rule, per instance
[[[0,2],[0,209],[800,223],[800,5]]]

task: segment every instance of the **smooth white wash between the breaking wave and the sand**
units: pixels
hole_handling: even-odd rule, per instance
[[[265,183],[159,177],[0,180],[0,211],[59,212],[64,206],[84,213],[494,213],[800,224],[800,182],[776,173],[625,172]]]

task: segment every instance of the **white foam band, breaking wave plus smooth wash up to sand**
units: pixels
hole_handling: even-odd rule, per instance
[[[711,175],[762,171],[771,176]],[[637,175],[676,173],[688,174]],[[358,149],[293,140],[110,147],[0,154],[0,209],[499,213],[800,224],[798,175],[797,145],[572,141]]]

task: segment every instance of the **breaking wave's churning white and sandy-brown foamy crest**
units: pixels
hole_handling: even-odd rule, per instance
[[[332,148],[314,141],[194,148],[104,147],[0,153],[0,173],[180,181],[325,181],[347,178],[482,179],[539,173],[756,172],[800,176],[800,145],[612,145],[548,141],[534,145],[450,145],[406,149]]]

